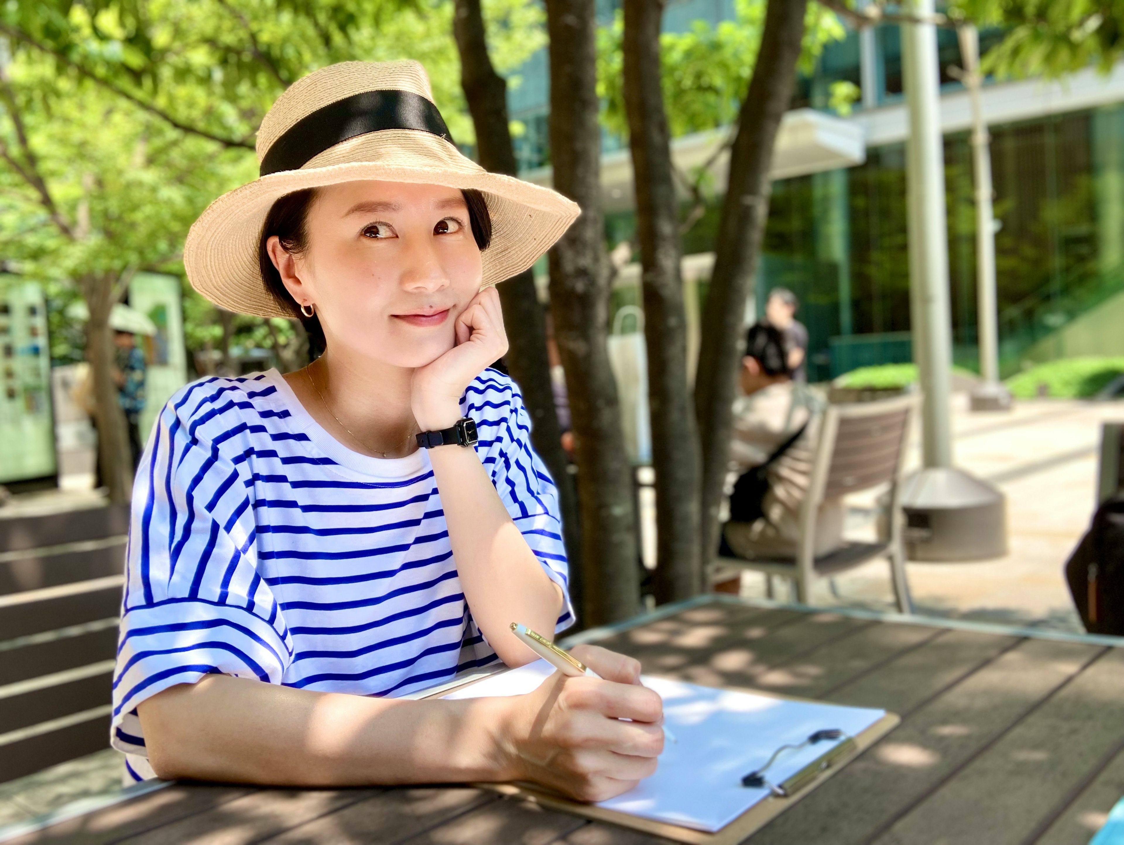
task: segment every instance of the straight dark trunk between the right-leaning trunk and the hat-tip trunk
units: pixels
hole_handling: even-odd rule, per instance
[[[699,566],[699,444],[687,386],[687,315],[668,117],[660,81],[664,0],[625,0],[624,96],[644,269],[644,335],[655,468],[655,597],[703,587]]]

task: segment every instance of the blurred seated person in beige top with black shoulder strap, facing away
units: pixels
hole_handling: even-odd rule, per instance
[[[806,385],[792,379],[788,360],[788,345],[776,326],[750,327],[729,449],[738,482],[731,496],[731,521],[723,528],[727,554],[736,557],[796,557],[800,506],[824,406]],[[824,502],[816,519],[818,557],[843,543],[842,498]]]

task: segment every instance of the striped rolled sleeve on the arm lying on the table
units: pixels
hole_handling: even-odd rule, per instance
[[[208,428],[232,401],[196,383],[165,405],[133,488],[111,741],[147,756],[137,705],[225,674],[280,683],[292,640],[257,569],[253,485],[237,431]]]

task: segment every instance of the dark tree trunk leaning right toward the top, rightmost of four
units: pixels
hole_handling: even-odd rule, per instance
[[[745,299],[753,291],[769,217],[773,143],[792,98],[807,0],[769,0],[761,50],[742,101],[718,223],[714,271],[703,313],[695,411],[703,444],[703,560],[718,548],[718,509],[726,478],[731,405],[742,360]]]

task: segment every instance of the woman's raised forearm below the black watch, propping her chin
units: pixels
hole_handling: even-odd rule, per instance
[[[510,631],[522,622],[554,633],[562,590],[543,570],[472,449],[429,450],[450,542],[472,618],[509,666],[534,658]]]

